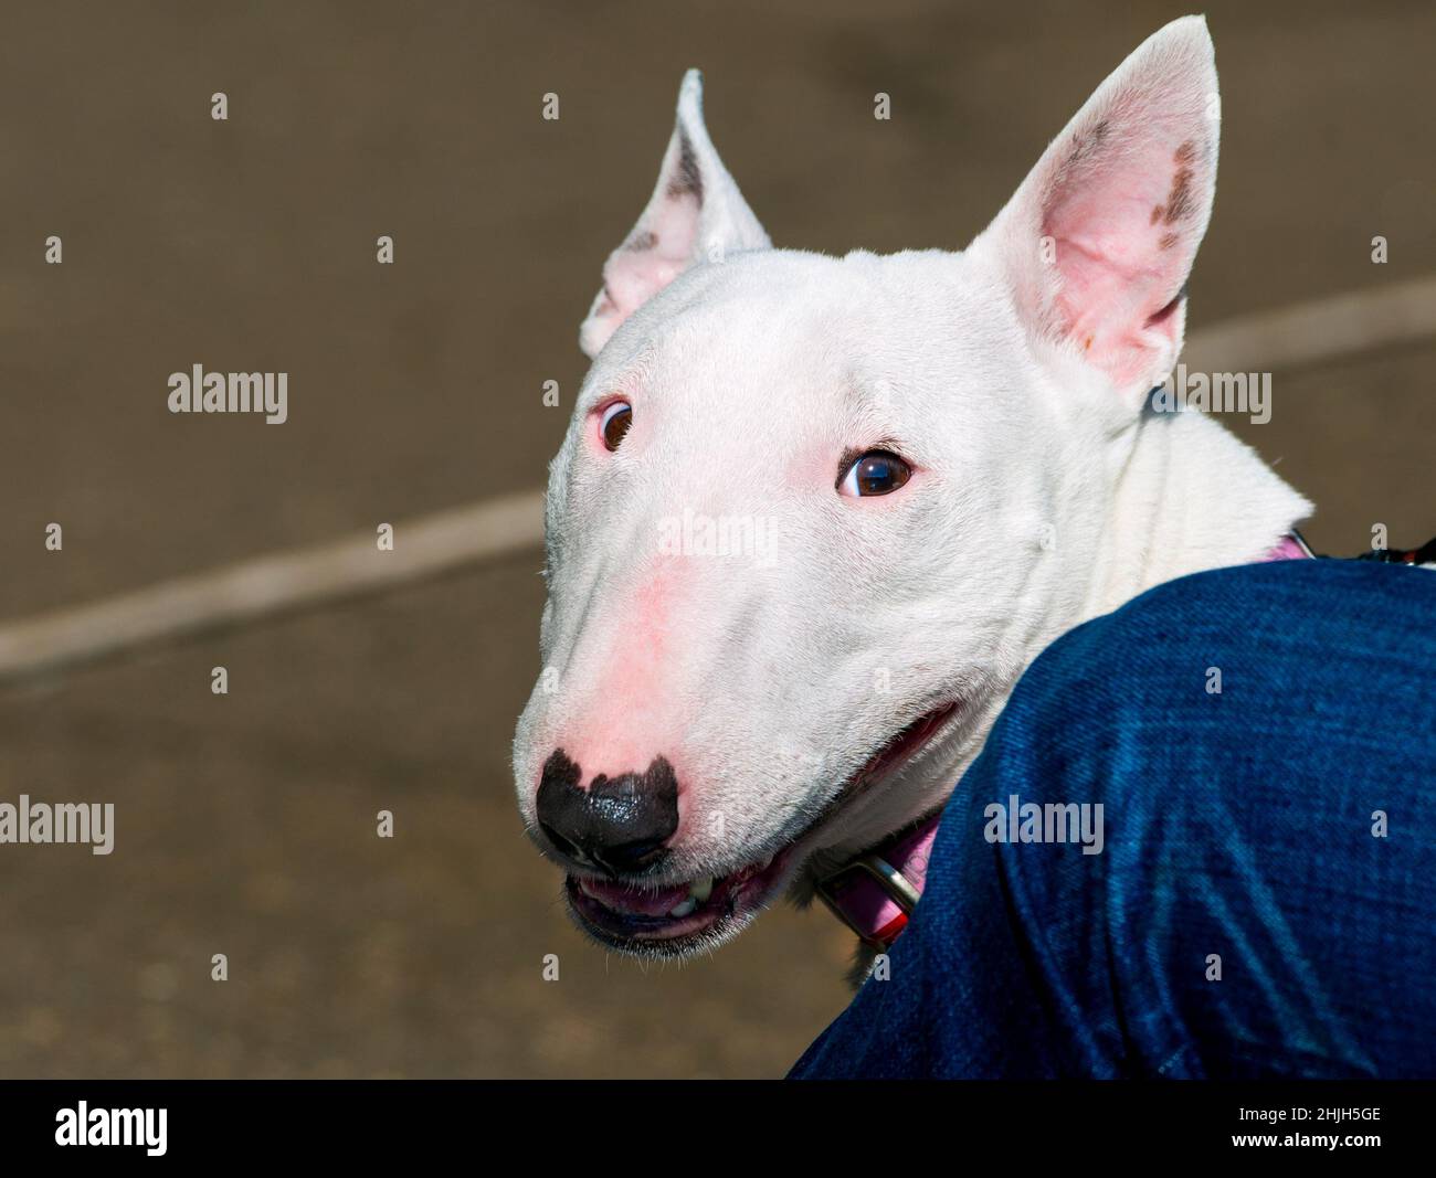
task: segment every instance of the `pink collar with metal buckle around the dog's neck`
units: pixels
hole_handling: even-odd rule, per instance
[[[1311,555],[1307,542],[1292,531],[1262,561],[1300,561]],[[817,881],[819,897],[863,944],[886,951],[908,927],[928,881],[928,859],[941,822],[939,809]]]

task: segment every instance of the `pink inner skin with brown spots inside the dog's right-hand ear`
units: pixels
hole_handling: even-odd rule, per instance
[[[1200,148],[1146,129],[1114,143],[1104,121],[1073,156],[1047,202],[1057,242],[1063,331],[1119,385],[1136,380],[1163,339],[1175,341],[1176,293],[1203,228]]]

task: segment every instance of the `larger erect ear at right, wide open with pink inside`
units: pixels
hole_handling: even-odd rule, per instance
[[[1159,385],[1182,349],[1219,129],[1206,22],[1175,20],[1101,83],[979,238],[1028,324],[1119,389]]]

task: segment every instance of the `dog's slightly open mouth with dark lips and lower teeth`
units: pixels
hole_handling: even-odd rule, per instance
[[[678,957],[719,940],[758,913],[788,875],[794,858],[853,798],[890,776],[926,748],[958,712],[948,703],[887,740],[839,791],[824,812],[775,855],[727,875],[666,887],[570,875],[564,891],[583,927],[605,944],[646,957]]]

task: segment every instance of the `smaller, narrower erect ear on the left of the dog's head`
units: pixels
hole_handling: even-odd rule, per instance
[[[691,69],[678,90],[678,119],[653,197],[603,264],[603,288],[579,329],[580,347],[597,356],[625,319],[688,267],[771,244],[708,138],[704,77]]]

